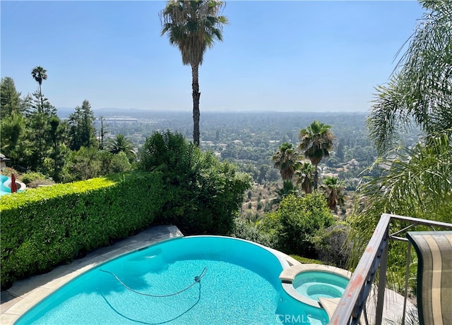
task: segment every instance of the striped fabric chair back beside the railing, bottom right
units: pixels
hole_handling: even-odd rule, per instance
[[[417,309],[422,325],[452,324],[452,231],[410,231],[417,265]]]

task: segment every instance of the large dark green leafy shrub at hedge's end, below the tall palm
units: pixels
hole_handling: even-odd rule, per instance
[[[169,131],[148,137],[138,155],[143,170],[164,175],[168,200],[160,222],[173,223],[184,233],[230,231],[244,192],[251,188],[248,175]]]

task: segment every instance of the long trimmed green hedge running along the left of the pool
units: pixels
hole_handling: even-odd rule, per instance
[[[162,173],[126,173],[5,195],[1,287],[153,223],[167,202]]]

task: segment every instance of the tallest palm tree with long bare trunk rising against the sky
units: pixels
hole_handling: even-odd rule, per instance
[[[193,142],[199,147],[199,92],[198,68],[203,55],[215,40],[222,41],[222,27],[227,24],[225,16],[219,16],[225,6],[218,0],[169,0],[160,12],[162,35],[167,34],[169,43],[179,47],[184,66],[191,66],[193,88]]]

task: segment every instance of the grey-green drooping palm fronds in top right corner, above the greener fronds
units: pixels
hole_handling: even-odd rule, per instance
[[[426,12],[388,85],[376,88],[367,120],[380,154],[413,123],[427,134],[452,133],[452,1],[420,4]]]

